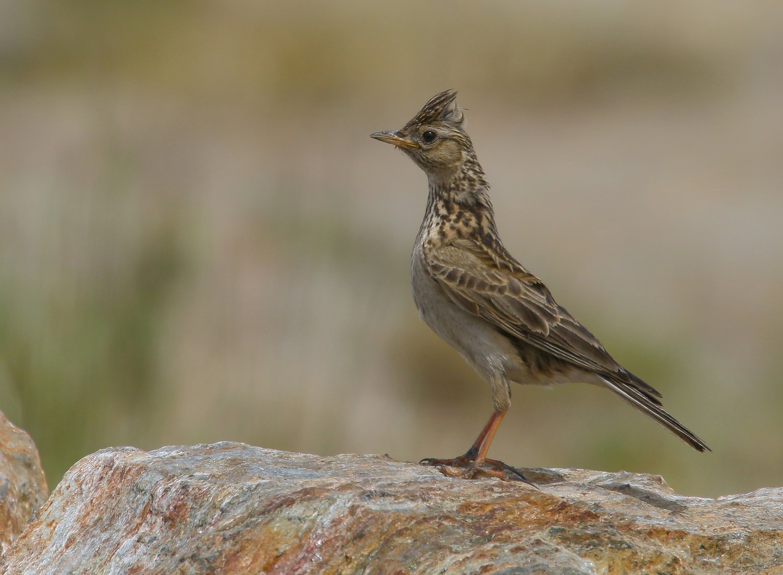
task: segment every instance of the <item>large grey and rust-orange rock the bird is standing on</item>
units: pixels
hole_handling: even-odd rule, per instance
[[[376,455],[103,450],[63,477],[6,573],[783,570],[783,489],[704,499],[658,476],[528,475],[540,490]]]

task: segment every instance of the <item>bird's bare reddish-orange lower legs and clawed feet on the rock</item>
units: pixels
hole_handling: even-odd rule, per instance
[[[511,472],[514,474],[514,480],[523,481],[529,485],[533,485],[525,479],[520,472],[496,459],[487,459],[486,454],[489,451],[489,444],[492,443],[495,437],[500,421],[503,421],[505,411],[493,411],[489,421],[487,421],[482,432],[478,434],[478,437],[474,441],[471,448],[460,457],[454,457],[453,459],[435,459],[435,457],[426,457],[420,461],[424,465],[435,465],[445,476],[460,477],[463,479],[475,479],[480,476],[496,477],[497,479],[503,479],[508,481],[509,477],[505,472]],[[535,485],[533,485],[535,487]]]

